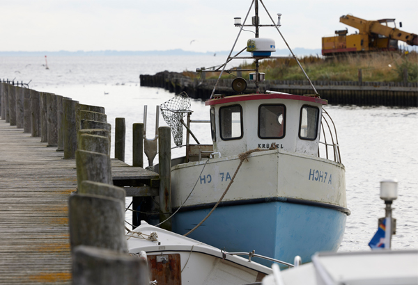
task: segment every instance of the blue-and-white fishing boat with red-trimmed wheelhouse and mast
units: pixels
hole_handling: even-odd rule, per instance
[[[217,94],[217,84],[206,101],[210,112],[212,145],[202,145],[193,136],[187,95],[176,95],[161,105],[164,120],[172,128],[176,145],[182,145],[183,125],[187,129],[186,155],[171,162],[173,231],[228,252],[251,252],[293,262],[311,260],[318,251],[336,252],[350,215],[346,202],[345,168],[332,119],[316,88],[304,72],[279,30],[280,17],[272,24],[260,24],[258,4],[252,0],[243,24],[255,28],[247,42],[251,56],[231,56],[223,65],[198,72],[219,71],[233,59],[254,60],[249,80],[237,77],[232,83],[236,95]],[[252,8],[252,24],[246,24]],[[272,56],[275,41],[259,38],[261,27],[277,29],[293,56]],[[261,92],[264,74],[260,60],[296,60],[311,83],[313,92],[291,95]],[[222,68],[222,70],[221,70]],[[218,82],[217,81],[217,82]],[[245,94],[247,84],[255,92]],[[183,117],[187,115],[187,123]],[[180,138],[179,138],[180,136]],[[190,143],[190,136],[196,144]],[[269,261],[259,262],[270,266]]]

